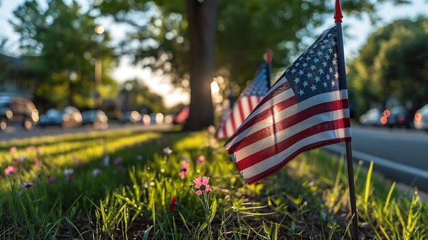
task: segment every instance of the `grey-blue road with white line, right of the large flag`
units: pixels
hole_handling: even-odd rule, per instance
[[[428,133],[356,126],[351,144],[354,161],[373,161],[374,170],[387,178],[428,191]],[[325,149],[344,153],[345,144]]]

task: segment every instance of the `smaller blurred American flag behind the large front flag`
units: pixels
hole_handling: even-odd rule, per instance
[[[250,85],[243,90],[235,105],[230,109],[226,118],[220,119],[219,128],[215,132],[215,138],[230,137],[250,115],[270,87],[269,64],[264,63],[258,68],[256,76]]]

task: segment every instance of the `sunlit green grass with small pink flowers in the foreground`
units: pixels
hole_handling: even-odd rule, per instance
[[[343,159],[313,150],[248,186],[222,144],[207,131],[0,142],[0,239],[351,238]],[[361,239],[428,238],[417,189],[395,189],[373,163],[354,169]],[[209,176],[212,189],[199,198],[197,176]]]

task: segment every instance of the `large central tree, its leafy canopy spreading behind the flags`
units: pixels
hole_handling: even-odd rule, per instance
[[[388,0],[376,3],[364,0],[346,1],[343,9],[352,14],[375,12],[376,5],[384,1]],[[204,5],[209,4],[213,4],[211,12],[204,10]],[[196,94],[194,88],[200,92],[200,86],[207,88],[208,81],[208,75],[194,76],[198,72],[196,68],[209,69],[212,63],[201,58],[201,62],[193,64],[193,44],[201,47],[203,44],[214,44],[205,47],[215,49],[216,72],[211,77],[222,76],[226,83],[236,81],[243,86],[253,77],[268,46],[274,53],[273,66],[287,66],[290,58],[297,55],[299,49],[306,47],[301,44],[304,37],[315,34],[314,29],[322,25],[326,17],[333,24],[333,1],[219,0],[217,11],[213,0],[187,0],[186,5],[187,8],[183,8],[180,1],[161,0],[137,1],[131,5],[126,1],[111,0],[98,8],[103,14],[111,14],[116,20],[135,27],[136,31],[126,40],[131,44],[123,46],[125,53],[134,53],[135,62],[142,61],[153,71],[170,75],[178,85],[183,80],[190,80],[191,110],[189,124],[186,126],[187,129],[194,126],[192,130],[202,129],[213,122],[212,116],[205,116],[200,111],[211,105],[211,94],[204,92],[193,96]],[[200,5],[201,8],[189,8],[189,5]],[[194,10],[201,12],[193,12]],[[207,15],[209,13],[215,16],[215,12],[219,13],[217,19]],[[146,20],[135,21],[137,14]],[[201,39],[206,39],[202,37],[204,34],[214,38],[214,34],[210,35],[209,32],[215,31],[215,42],[192,41],[192,26],[201,27],[203,31],[195,33],[200,34]],[[215,29],[209,30],[209,27]],[[133,46],[137,46],[137,49]],[[205,111],[211,111],[211,107]],[[198,124],[193,125],[196,122]]]

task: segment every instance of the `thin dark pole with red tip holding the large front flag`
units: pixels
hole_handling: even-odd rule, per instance
[[[343,88],[347,89],[346,70],[345,70],[345,54],[343,53],[343,36],[342,36],[342,8],[340,0],[336,0],[334,5],[334,23],[337,31],[337,47],[338,47],[338,67],[340,83]],[[348,181],[349,181],[349,198],[351,199],[351,213],[352,213],[352,238],[360,239],[358,234],[358,214],[356,206],[355,183],[353,180],[353,165],[352,165],[352,147],[351,142],[348,141],[346,145],[346,158],[348,167]]]

